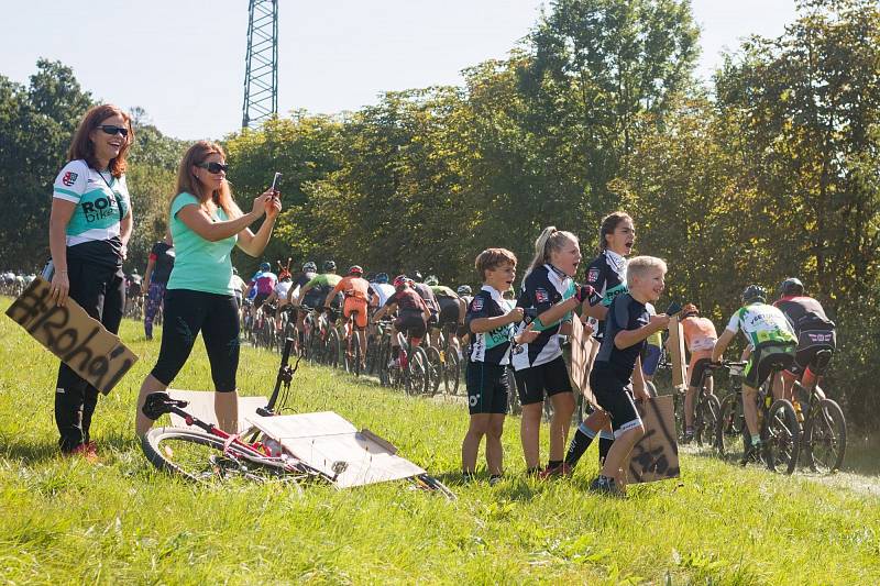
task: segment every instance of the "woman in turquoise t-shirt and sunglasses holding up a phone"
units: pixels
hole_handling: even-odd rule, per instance
[[[239,368],[239,312],[232,286],[232,247],[260,256],[282,210],[278,192],[256,197],[242,213],[227,183],[226,155],[213,143],[194,144],[177,174],[170,199],[169,226],[176,251],[165,294],[165,324],[158,361],[141,386],[135,432],[144,435],[152,421],[141,411],[146,396],[165,390],[180,372],[201,332],[221,429],[235,433],[239,421],[235,375]],[[256,234],[248,228],[266,214]]]

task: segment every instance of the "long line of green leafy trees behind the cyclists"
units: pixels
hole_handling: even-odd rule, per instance
[[[387,92],[338,115],[295,111],[222,142],[241,198],[284,174],[273,261],[475,284],[481,250],[526,264],[554,224],[590,256],[602,215],[623,209],[637,252],[669,261],[669,296],[719,325],[747,284],[774,292],[799,276],[838,323],[829,385],[866,423],[880,412],[879,41],[876,2],[803,0],[783,35],[747,38],[704,84],[686,0],[557,0],[460,87]],[[0,197],[13,212],[0,214],[0,266],[45,257],[47,194],[91,101],[62,64],[40,62],[30,87],[0,77]],[[135,114],[130,257],[141,267],[187,145]]]

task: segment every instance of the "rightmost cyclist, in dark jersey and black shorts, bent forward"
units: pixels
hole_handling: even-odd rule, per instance
[[[810,369],[810,364],[823,350],[834,353],[837,347],[837,332],[822,303],[805,296],[804,284],[795,277],[782,281],[780,297],[773,306],[784,313],[798,336],[794,364],[782,373],[782,396],[791,400],[795,379],[801,380],[806,388],[816,383],[816,374]]]

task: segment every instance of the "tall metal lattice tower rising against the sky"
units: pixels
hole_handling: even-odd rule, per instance
[[[250,0],[241,128],[278,113],[278,0]]]

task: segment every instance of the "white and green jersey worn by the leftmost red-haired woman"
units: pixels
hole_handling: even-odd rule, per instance
[[[55,178],[53,198],[76,203],[67,222],[67,246],[120,236],[122,219],[131,209],[125,176],[99,173],[85,161],[72,161]]]

